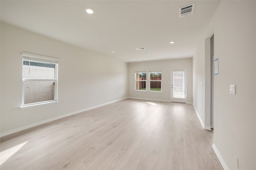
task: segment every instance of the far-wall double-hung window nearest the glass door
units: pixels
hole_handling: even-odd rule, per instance
[[[161,92],[162,91],[162,72],[161,71],[150,71],[150,92]]]

